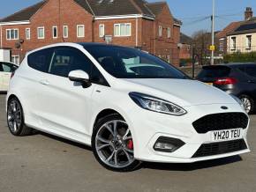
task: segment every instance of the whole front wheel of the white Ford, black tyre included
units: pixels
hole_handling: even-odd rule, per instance
[[[94,126],[94,157],[105,168],[115,172],[131,172],[139,167],[134,159],[132,133],[119,114],[109,114]]]

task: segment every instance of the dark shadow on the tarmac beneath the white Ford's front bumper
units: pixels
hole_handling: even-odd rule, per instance
[[[190,163],[190,164],[182,164],[182,163],[181,164],[179,163],[163,164],[163,163],[144,162],[142,165],[142,168],[158,169],[158,170],[165,170],[165,171],[195,171],[195,170],[206,169],[206,168],[211,168],[215,166],[224,166],[224,165],[236,163],[242,160],[243,159],[239,155],[236,155],[228,158],[206,160],[206,161],[200,161],[200,162]]]

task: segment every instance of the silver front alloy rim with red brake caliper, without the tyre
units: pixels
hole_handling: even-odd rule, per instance
[[[134,162],[132,134],[126,122],[106,122],[95,137],[95,148],[102,162],[114,168],[123,168]]]

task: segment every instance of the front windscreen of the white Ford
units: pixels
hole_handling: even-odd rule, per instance
[[[162,59],[135,48],[88,46],[87,51],[116,78],[188,78]]]

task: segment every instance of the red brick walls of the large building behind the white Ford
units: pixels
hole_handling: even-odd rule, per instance
[[[60,3],[60,4],[59,4]],[[128,37],[115,37],[114,24],[131,23],[132,34]],[[26,51],[56,42],[104,42],[99,36],[99,25],[103,24],[106,35],[112,35],[112,44],[139,47],[154,55],[160,55],[170,63],[178,64],[180,28],[174,26],[174,20],[166,5],[162,13],[155,19],[125,18],[94,20],[93,16],[72,0],[49,0],[41,10],[34,14],[29,25],[3,26],[3,47],[12,48],[12,55],[20,55],[20,59]],[[77,25],[85,26],[85,37],[77,37]],[[44,26],[45,38],[37,38],[37,27]],[[52,27],[57,26],[57,38],[53,38]],[[68,38],[63,37],[63,26],[68,26]],[[158,26],[162,26],[162,37],[158,35]],[[171,30],[170,38],[167,37],[168,27]],[[21,48],[15,48],[17,40],[6,40],[6,29],[19,28],[19,39],[23,39]],[[26,40],[26,28],[31,30],[31,39]],[[137,30],[136,30],[137,28]],[[136,35],[137,34],[137,35]]]

